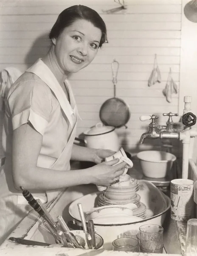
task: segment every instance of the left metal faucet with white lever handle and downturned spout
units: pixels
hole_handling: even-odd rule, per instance
[[[158,119],[158,116],[140,116],[141,121],[152,120],[149,123],[149,131],[142,134],[139,140],[139,143],[143,144],[145,139],[180,139],[180,132],[169,132],[158,130],[158,124],[155,122],[155,119]]]

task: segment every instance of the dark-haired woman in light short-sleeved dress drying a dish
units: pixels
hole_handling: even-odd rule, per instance
[[[3,125],[6,163],[0,173],[2,241],[30,210],[20,186],[48,203],[68,186],[109,186],[126,165],[103,162],[113,151],[73,145],[78,111],[67,78],[87,67],[106,41],[104,21],[86,6],[71,6],[59,15],[49,37],[48,54],[23,73],[8,94]],[[97,165],[71,171],[70,159]]]

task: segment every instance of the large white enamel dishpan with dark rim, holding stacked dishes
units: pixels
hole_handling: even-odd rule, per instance
[[[154,211],[154,216],[149,216],[146,219],[130,223],[116,224],[94,224],[95,231],[104,239],[103,247],[106,250],[112,250],[112,242],[118,237],[123,236],[127,230],[138,230],[143,224],[158,224],[162,226],[166,217],[166,212],[170,209],[170,198],[163,192],[160,192],[152,183],[146,180],[139,180],[141,187],[141,202],[146,203],[147,209]],[[140,190],[139,190],[140,191]],[[77,203],[82,203],[84,212],[87,212],[91,207],[96,207],[98,195],[101,192],[95,192],[85,195],[70,204],[69,214],[73,221],[68,221],[68,227],[72,229],[83,229],[80,217],[78,216]],[[165,206],[164,206],[165,205]],[[93,220],[94,221],[94,220]]]

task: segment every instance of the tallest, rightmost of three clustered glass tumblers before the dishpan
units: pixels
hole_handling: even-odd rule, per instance
[[[159,250],[163,247],[163,227],[145,224],[139,227],[141,247],[145,250]]]

